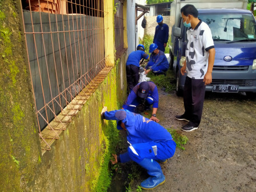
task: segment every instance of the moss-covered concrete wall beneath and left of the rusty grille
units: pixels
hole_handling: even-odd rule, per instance
[[[19,1],[0,1],[0,191],[105,191],[117,141],[114,122],[101,110],[126,97],[126,53],[42,155]]]

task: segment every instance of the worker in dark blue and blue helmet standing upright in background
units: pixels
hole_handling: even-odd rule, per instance
[[[157,44],[158,49],[165,53],[165,47],[169,38],[169,26],[163,23],[162,15],[157,16],[158,26],[155,27],[153,43]]]

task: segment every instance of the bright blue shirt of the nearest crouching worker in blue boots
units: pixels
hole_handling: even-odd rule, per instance
[[[106,111],[105,119],[117,120],[115,113],[118,110]],[[142,115],[126,111],[126,118],[122,120],[127,129],[127,141],[131,144],[147,142],[166,142],[173,139],[171,134],[159,123]]]

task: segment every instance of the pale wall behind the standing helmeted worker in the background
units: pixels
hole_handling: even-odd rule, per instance
[[[158,25],[156,16],[146,16],[146,28],[144,33],[147,35],[155,35],[155,27]],[[169,26],[170,16],[163,16],[163,23],[166,23]],[[170,26],[169,26],[170,29]]]

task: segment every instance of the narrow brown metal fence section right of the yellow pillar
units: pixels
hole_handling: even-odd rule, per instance
[[[117,58],[125,51],[123,43],[123,0],[115,0],[114,22],[115,22],[115,50]]]

